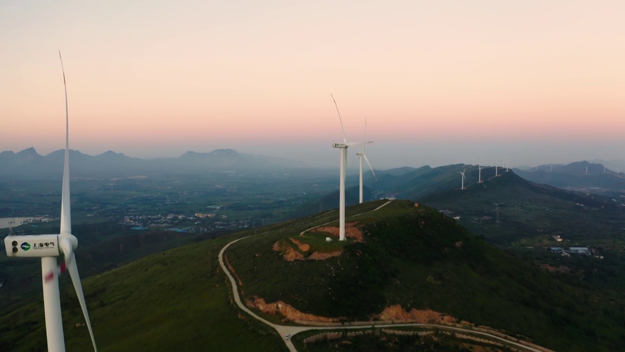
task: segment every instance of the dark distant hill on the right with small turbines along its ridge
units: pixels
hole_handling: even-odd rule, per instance
[[[483,170],[482,170],[483,171]],[[612,242],[623,235],[625,207],[599,195],[584,195],[537,185],[504,172],[466,190],[452,189],[419,202],[460,217],[460,224],[489,241],[509,246],[556,245],[551,236],[587,245]],[[499,224],[497,224],[499,209]]]

